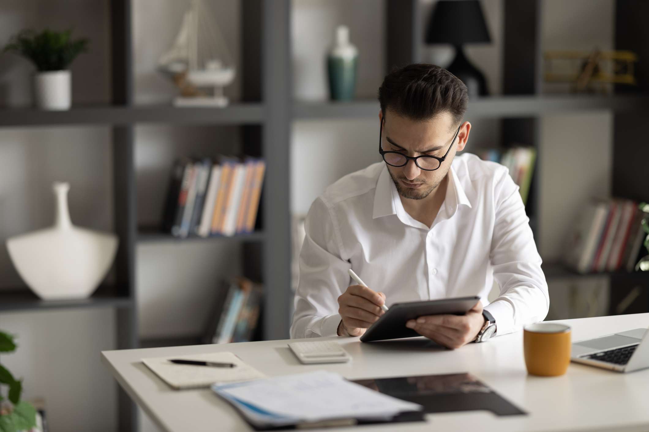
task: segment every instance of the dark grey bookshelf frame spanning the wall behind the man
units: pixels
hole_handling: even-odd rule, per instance
[[[262,282],[264,339],[288,337],[291,302],[290,232],[290,130],[297,120],[362,119],[378,115],[376,100],[352,102],[300,102],[291,97],[291,0],[241,1],[241,58],[243,63],[242,101],[225,109],[173,108],[169,105],[136,106],[132,48],[132,2],[110,0],[110,50],[112,57],[112,102],[93,106],[73,106],[69,111],[0,109],[0,127],[112,126],[115,233],[120,246],[114,264],[114,284],[103,286],[84,301],[40,301],[27,288],[0,292],[0,313],[14,310],[69,308],[113,308],[117,317],[117,348],[191,345],[199,337],[138,340],[135,273],[136,245],[163,242],[242,242],[244,275]],[[639,0],[617,0],[616,43],[618,49],[639,54],[638,93],[611,96],[541,95],[541,52],[539,12],[541,0],[504,0],[504,95],[471,101],[467,117],[502,119],[504,142],[528,142],[539,146],[538,119],[546,114],[613,111],[615,113],[615,154],[613,194],[646,199],[644,166],[649,147],[635,137],[643,136],[649,111],[649,47],[643,41],[649,30],[642,17],[649,16],[649,4]],[[644,13],[633,12],[642,10]],[[393,65],[421,60],[422,34],[417,0],[386,0],[386,71]],[[404,30],[406,29],[406,30]],[[496,31],[495,29],[493,31]],[[621,89],[620,89],[621,90]],[[229,238],[177,239],[169,234],[138,227],[134,169],[134,128],[138,124],[231,125],[241,130],[241,150],[263,157],[267,164],[257,231]],[[530,191],[528,216],[537,242],[539,232],[539,180],[551,175],[537,163]],[[646,187],[646,186],[644,186]],[[557,264],[544,264],[548,279],[612,277],[620,290],[638,285],[649,288],[643,273],[598,273],[579,275]],[[120,431],[137,429],[134,404],[119,393]]]

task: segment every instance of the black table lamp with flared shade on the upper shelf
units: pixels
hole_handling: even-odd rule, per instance
[[[456,56],[447,70],[467,85],[469,97],[486,96],[484,74],[469,62],[462,45],[491,42],[478,0],[439,0],[428,21],[426,43],[450,43]]]

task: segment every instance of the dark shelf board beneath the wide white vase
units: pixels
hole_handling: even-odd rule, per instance
[[[29,288],[0,290],[0,312],[69,308],[131,308],[133,299],[116,294],[115,287],[100,286],[88,299],[42,300]]]

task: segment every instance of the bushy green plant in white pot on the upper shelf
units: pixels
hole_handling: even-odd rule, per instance
[[[71,74],[69,65],[88,49],[88,39],[72,40],[72,30],[55,32],[22,30],[12,36],[5,52],[14,52],[36,66],[34,98],[41,109],[61,111],[71,105]]]

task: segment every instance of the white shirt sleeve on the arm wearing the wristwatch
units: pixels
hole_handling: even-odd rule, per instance
[[[550,297],[519,188],[507,172],[496,180],[494,197],[496,216],[490,259],[500,295],[485,310],[496,319],[496,334],[502,335],[543,321]]]

